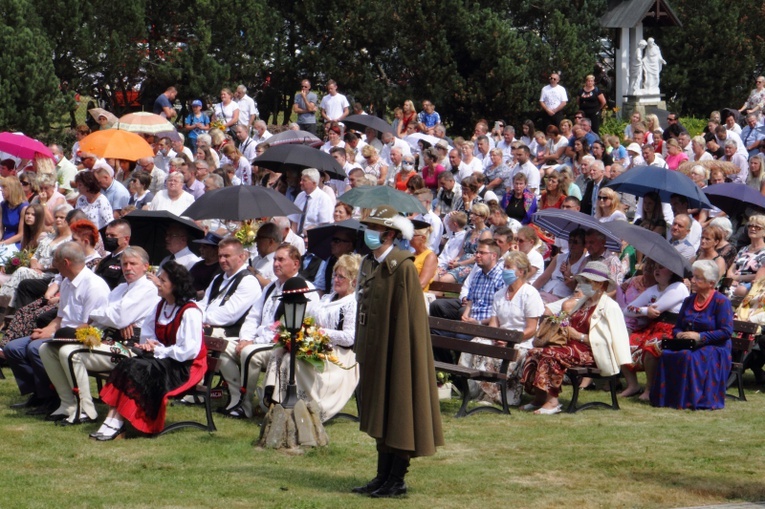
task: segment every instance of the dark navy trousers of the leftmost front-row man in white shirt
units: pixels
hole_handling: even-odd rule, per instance
[[[56,391],[51,388],[50,378],[40,359],[40,347],[47,341],[33,340],[26,336],[14,339],[3,348],[5,359],[13,371],[21,394],[34,393],[42,399],[56,397]]]

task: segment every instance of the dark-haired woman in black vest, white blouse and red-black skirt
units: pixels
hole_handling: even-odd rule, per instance
[[[99,441],[125,434],[125,420],[138,431],[154,434],[165,425],[167,399],[202,380],[207,349],[202,342],[202,311],[192,301],[196,292],[188,271],[174,261],[162,266],[162,297],[154,316],[141,328],[138,356],[112,371],[101,399],[111,408],[97,432]]]

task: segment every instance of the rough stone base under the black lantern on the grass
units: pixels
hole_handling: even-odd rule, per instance
[[[295,408],[271,405],[260,428],[258,445],[268,449],[297,449],[300,446],[323,447],[329,437],[321,423],[315,402],[298,400]]]

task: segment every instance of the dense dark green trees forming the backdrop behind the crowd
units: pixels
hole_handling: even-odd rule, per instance
[[[756,34],[765,9],[756,0],[711,1],[675,0],[684,26],[646,31],[668,61],[662,90],[683,114],[740,106],[762,73],[765,42]],[[516,125],[535,118],[552,71],[572,97],[570,115],[601,54],[605,7],[606,0],[0,0],[0,128],[45,132],[65,101],[72,106],[71,92],[119,115],[150,108],[170,85],[187,103],[239,83],[257,95],[262,117],[287,122],[305,77],[318,92],[335,79],[375,113],[431,99],[458,135],[478,118]],[[139,88],[140,104],[127,104],[121,93]]]

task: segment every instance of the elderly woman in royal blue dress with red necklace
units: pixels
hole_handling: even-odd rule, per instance
[[[664,343],[666,348],[658,359],[645,358],[646,363],[655,363],[651,404],[692,410],[724,408],[731,369],[733,308],[730,300],[714,289],[720,278],[715,262],[699,260],[692,268],[694,293],[680,308],[672,330],[674,339]],[[670,346],[675,340],[684,340],[684,344]]]

